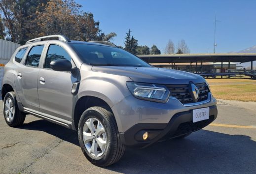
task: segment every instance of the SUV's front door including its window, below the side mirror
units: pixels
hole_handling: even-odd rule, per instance
[[[77,75],[50,68],[51,61],[64,58],[71,61],[73,68],[76,67],[72,57],[62,46],[47,46],[43,68],[38,74],[38,98],[42,113],[71,121],[74,97],[71,90],[73,83],[77,81]]]

